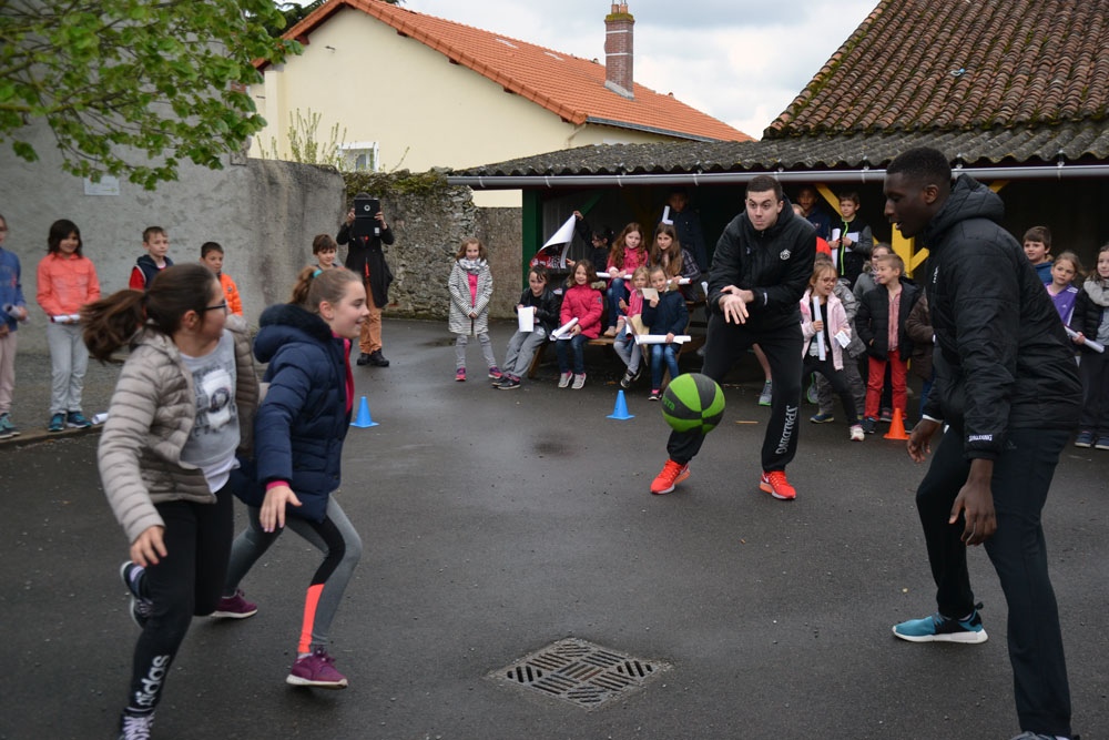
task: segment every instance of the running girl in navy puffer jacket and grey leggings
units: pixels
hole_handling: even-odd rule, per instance
[[[315,272],[301,271],[293,301],[262,314],[254,354],[269,363],[264,377],[269,388],[255,425],[258,486],[241,495],[251,524],[232,546],[225,596],[214,616],[242,619],[257,611],[238,582],[287,521],[323,550],[324,561],[308,586],[297,658],[286,682],[343,689],[347,679],[327,655],[327,635],[362,557],[362,539],[332,494],[339,486],[354,403],[350,341],[369,310],[355,273]]]

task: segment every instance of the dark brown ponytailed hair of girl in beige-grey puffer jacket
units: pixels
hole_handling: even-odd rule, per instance
[[[173,336],[186,313],[204,315],[213,284],[218,285],[211,270],[186,263],[160,270],[145,293],[118,291],[90,303],[81,310],[82,337],[89,354],[108,359],[143,326]]]

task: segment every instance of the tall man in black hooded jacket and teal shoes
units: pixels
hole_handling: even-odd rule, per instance
[[[1070,689],[1040,514],[1081,389],[1074,349],[1020,244],[998,223],[1001,199],[947,159],[913,149],[886,170],[886,217],[929,250],[925,284],[936,381],[907,443],[938,611],[894,626],[914,642],[986,640],[966,546],[985,543],[1009,607],[1021,738],[1070,737]],[[959,519],[963,519],[960,523]]]

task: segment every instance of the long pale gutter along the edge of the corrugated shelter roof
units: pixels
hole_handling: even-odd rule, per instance
[[[1015,168],[955,168],[954,174],[975,180],[1074,180],[1109,178],[1109,164],[1047,164]],[[635,185],[724,185],[745,183],[755,175],[769,174],[780,182],[877,183],[885,170],[804,170],[800,172],[690,172],[682,174],[604,174],[604,175],[448,175],[447,184],[476,190],[517,190],[520,187],[581,187]]]

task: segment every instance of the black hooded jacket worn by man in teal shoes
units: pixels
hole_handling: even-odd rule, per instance
[[[963,432],[968,458],[996,458],[1009,429],[1072,429],[1082,397],[1074,347],[1004,213],[963,175],[919,235],[936,334],[925,414]]]

